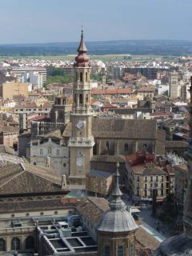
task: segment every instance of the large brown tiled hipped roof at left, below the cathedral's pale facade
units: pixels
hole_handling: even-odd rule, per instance
[[[0,194],[62,191],[61,178],[46,167],[17,164],[0,168]]]

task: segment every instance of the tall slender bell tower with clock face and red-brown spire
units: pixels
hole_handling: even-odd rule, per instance
[[[83,39],[78,46],[78,56],[74,62],[73,111],[70,114],[72,134],[70,147],[69,183],[86,184],[86,173],[90,171],[93,155],[94,137],[92,136],[92,113],[90,109],[90,58]]]

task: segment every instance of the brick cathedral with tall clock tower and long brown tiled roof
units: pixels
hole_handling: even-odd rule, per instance
[[[93,168],[93,158],[95,166],[95,161],[99,162],[99,156],[103,155],[118,157],[138,151],[165,154],[165,132],[158,129],[156,120],[92,117],[90,58],[86,53],[82,31],[74,61],[72,108],[65,94],[58,95],[50,111],[50,120],[33,122],[30,138],[29,134],[22,134],[18,145],[22,154],[27,149],[26,158],[37,166],[46,166],[48,156],[51,168],[59,175],[66,174],[67,181],[75,186],[85,186],[86,174]],[[59,138],[55,138],[56,130]]]

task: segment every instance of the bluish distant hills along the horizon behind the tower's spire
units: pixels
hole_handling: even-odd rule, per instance
[[[191,41],[174,40],[123,40],[86,42],[89,54],[157,54],[192,55]],[[78,42],[51,42],[34,44],[0,45],[0,56],[38,56],[76,54]]]

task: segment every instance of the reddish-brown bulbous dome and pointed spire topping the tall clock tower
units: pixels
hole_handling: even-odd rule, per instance
[[[75,58],[74,66],[86,67],[90,66],[90,58],[86,55],[87,48],[83,39],[83,30],[81,35],[81,42],[78,46],[78,56]]]

